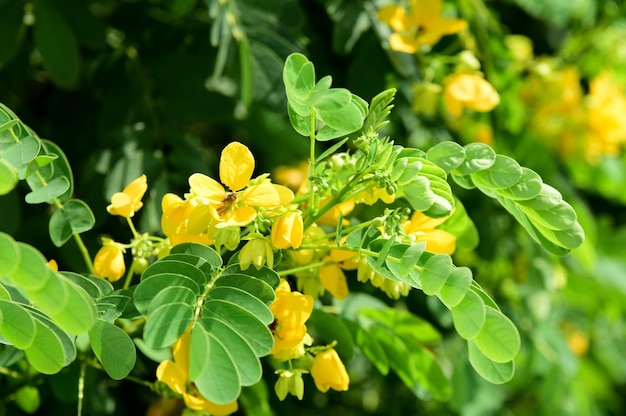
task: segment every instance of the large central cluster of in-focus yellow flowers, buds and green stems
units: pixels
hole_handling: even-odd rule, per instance
[[[288,182],[296,191],[274,184],[269,175],[252,177],[254,157],[241,143],[233,142],[221,154],[220,182],[202,173],[189,177],[189,192],[183,197],[165,194],[162,198],[161,226],[165,237],[141,234],[132,217],[142,207],[147,189],[144,175],[116,193],[107,208],[112,215],[126,218],[133,233],[128,244],[103,239],[103,247],[95,259],[95,273],[114,282],[125,273],[124,253],[132,253],[132,267],[124,284],[127,288],[133,273],[140,273],[146,264],[168,253],[183,242],[212,245],[217,252],[230,256],[241,270],[250,266],[261,270],[267,266],[279,275],[295,281],[299,291],[281,280],[269,310],[274,322],[269,326],[274,344],[269,351],[276,365],[278,380],[275,391],[282,400],[288,394],[302,399],[303,375],[310,373],[316,387],[347,390],[350,378],[337,351],[336,341],[313,345],[307,320],[313,313],[315,299],[328,292],[342,300],[349,295],[349,280],[370,282],[392,298],[408,294],[410,286],[381,275],[372,268],[359,250],[346,245],[351,230],[375,227],[385,238],[407,244],[424,242],[432,253],[451,254],[456,238],[437,227],[446,217],[433,219],[408,208],[387,209],[385,214],[369,221],[356,218],[356,207],[394,204],[400,189],[392,179],[392,166],[386,163],[393,151],[387,139],[376,149],[370,165],[364,159],[371,153],[376,135],[355,141],[357,151],[337,153],[314,168],[301,166],[282,175],[297,180]],[[395,149],[395,150],[394,150]],[[405,163],[400,167],[404,169]],[[315,175],[303,174],[303,170]],[[299,175],[292,175],[292,173]],[[402,174],[399,183],[412,180],[410,171]],[[356,180],[355,180],[356,178]],[[351,181],[351,182],[350,182]],[[296,199],[297,195],[297,199]],[[343,228],[337,240],[337,229]],[[230,252],[230,254],[228,254]],[[226,257],[225,257],[226,258]],[[279,267],[276,267],[280,261]],[[192,324],[193,325],[193,324]],[[157,369],[157,378],[165,383],[185,404],[211,414],[230,414],[237,403],[217,405],[204,398],[189,381],[190,331],[173,346],[173,360],[165,360]]]

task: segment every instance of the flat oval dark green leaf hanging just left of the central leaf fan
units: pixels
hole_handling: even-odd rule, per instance
[[[116,325],[98,319],[89,330],[89,342],[104,371],[113,380],[124,379],[135,367],[135,345]]]

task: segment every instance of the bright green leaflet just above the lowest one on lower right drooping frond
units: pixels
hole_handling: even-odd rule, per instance
[[[501,312],[493,308],[485,308],[485,312],[485,324],[473,339],[474,343],[492,361],[512,361],[521,346],[517,328]]]

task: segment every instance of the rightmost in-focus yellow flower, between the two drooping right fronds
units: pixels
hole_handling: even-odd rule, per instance
[[[444,218],[430,218],[415,211],[411,219],[403,224],[404,232],[413,236],[416,241],[425,241],[426,250],[437,254],[452,254],[456,246],[456,237],[447,231],[437,230]]]

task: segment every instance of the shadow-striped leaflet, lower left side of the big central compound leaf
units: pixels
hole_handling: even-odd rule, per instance
[[[146,317],[143,339],[152,348],[172,345],[189,328],[194,308],[186,303],[168,303]]]

